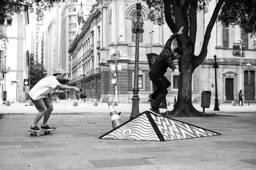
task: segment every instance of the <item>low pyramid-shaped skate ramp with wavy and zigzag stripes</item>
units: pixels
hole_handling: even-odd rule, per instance
[[[144,111],[138,116],[128,120],[100,139],[123,139],[143,141],[171,141],[205,136],[215,136],[220,133],[197,127],[179,120],[164,116],[155,116]]]

